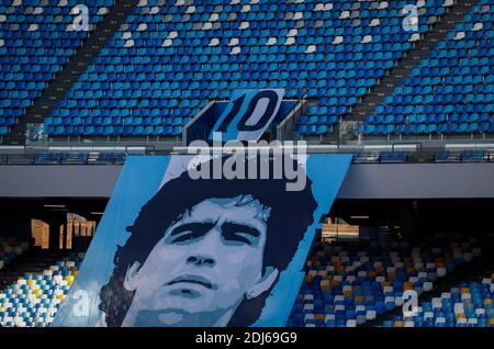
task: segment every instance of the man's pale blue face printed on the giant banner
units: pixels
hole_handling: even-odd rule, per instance
[[[187,315],[218,318],[244,296],[269,290],[278,275],[262,268],[269,215],[270,209],[250,195],[207,199],[183,212],[144,264],[127,272],[133,313],[153,313],[164,325],[182,323]]]

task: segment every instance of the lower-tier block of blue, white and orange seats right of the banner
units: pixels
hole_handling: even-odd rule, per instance
[[[475,239],[438,241],[416,247],[367,241],[316,246],[288,325],[355,327],[374,320],[403,305],[404,291],[431,291],[437,278],[481,254]]]

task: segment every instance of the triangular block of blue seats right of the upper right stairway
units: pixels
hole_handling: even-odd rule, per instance
[[[373,135],[494,133],[494,1],[481,0],[366,117]]]

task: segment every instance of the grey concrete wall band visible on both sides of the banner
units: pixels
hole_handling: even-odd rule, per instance
[[[0,166],[0,198],[108,198],[121,166]],[[494,164],[352,165],[338,199],[494,198]]]

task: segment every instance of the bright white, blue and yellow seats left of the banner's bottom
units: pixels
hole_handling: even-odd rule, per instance
[[[83,254],[68,257],[43,273],[26,273],[0,292],[0,326],[49,326],[68,294]]]

